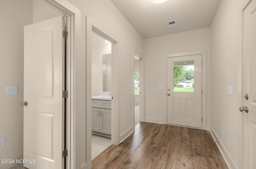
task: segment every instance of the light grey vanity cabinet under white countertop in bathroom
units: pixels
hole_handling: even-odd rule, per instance
[[[92,132],[111,135],[111,100],[92,99]]]

